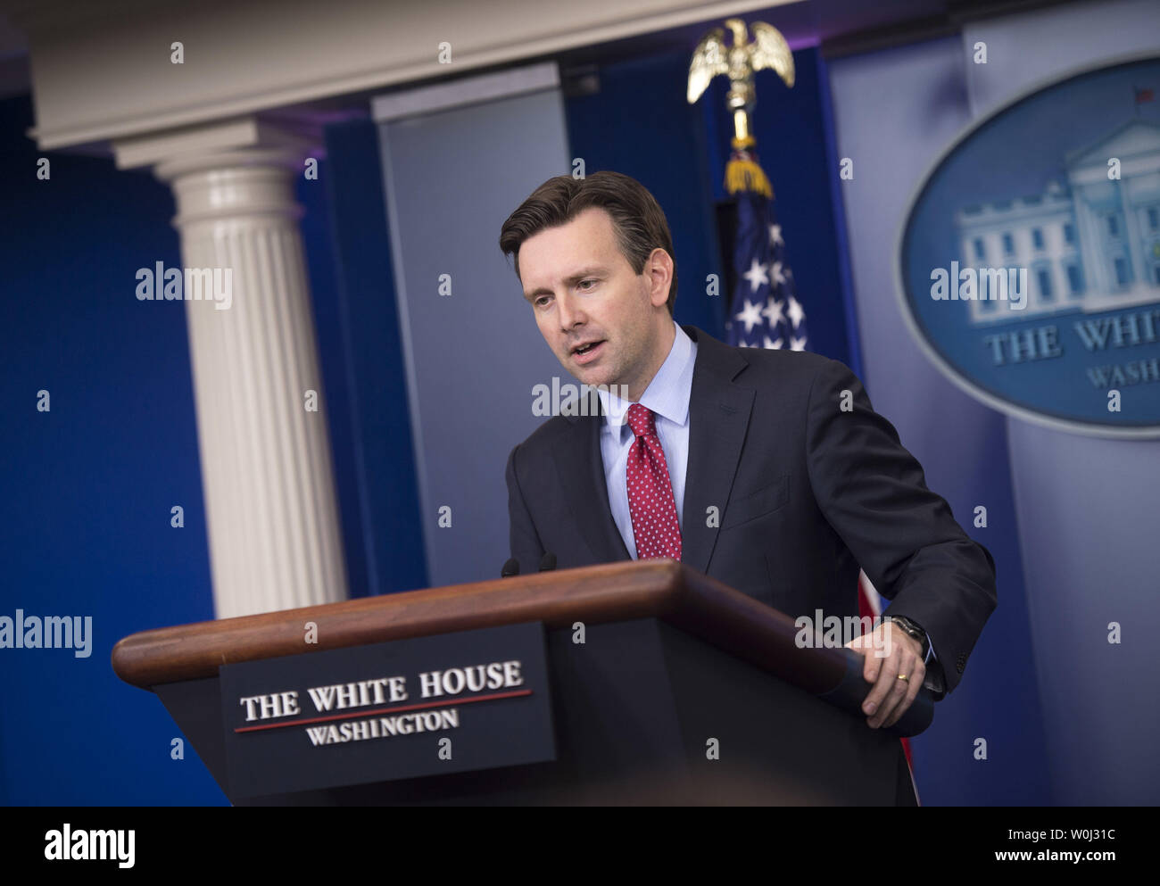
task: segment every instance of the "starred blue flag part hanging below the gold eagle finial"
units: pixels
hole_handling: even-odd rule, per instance
[[[805,310],[797,300],[793,273],[785,261],[785,237],[774,213],[773,197],[762,194],[760,187],[737,194],[737,283],[725,324],[728,343],[805,350]]]

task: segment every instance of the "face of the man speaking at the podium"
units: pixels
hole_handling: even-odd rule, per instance
[[[616,245],[611,216],[594,206],[524,240],[520,276],[539,332],[564,369],[586,385],[626,385],[629,399],[638,400],[672,347],[668,254],[654,249],[635,274]]]

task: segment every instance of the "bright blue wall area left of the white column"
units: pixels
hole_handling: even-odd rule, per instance
[[[92,654],[0,649],[0,801],[222,804],[151,692],[109,666],[122,637],[213,617],[184,305],[135,273],[180,264],[169,189],[49,154],[27,97],[0,102],[0,615],[90,616]],[[51,412],[36,411],[48,390]],[[169,509],[184,508],[184,528]]]

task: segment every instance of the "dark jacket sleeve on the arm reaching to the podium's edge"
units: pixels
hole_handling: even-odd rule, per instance
[[[947,501],[927,488],[922,466],[894,427],[836,361],[826,361],[814,376],[805,443],[822,514],[892,601],[889,612],[927,632],[950,692],[996,604],[991,552],[971,540]]]

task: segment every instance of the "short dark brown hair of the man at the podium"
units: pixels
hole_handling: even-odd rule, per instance
[[[644,271],[653,249],[661,248],[673,259],[673,282],[668,290],[668,313],[672,315],[676,302],[676,256],[668,221],[648,189],[621,173],[593,173],[587,179],[557,175],[536,188],[500,230],[500,249],[514,256],[516,276],[520,276],[520,247],[524,240],[545,228],[565,225],[592,206],[611,216],[617,246],[636,274]]]

